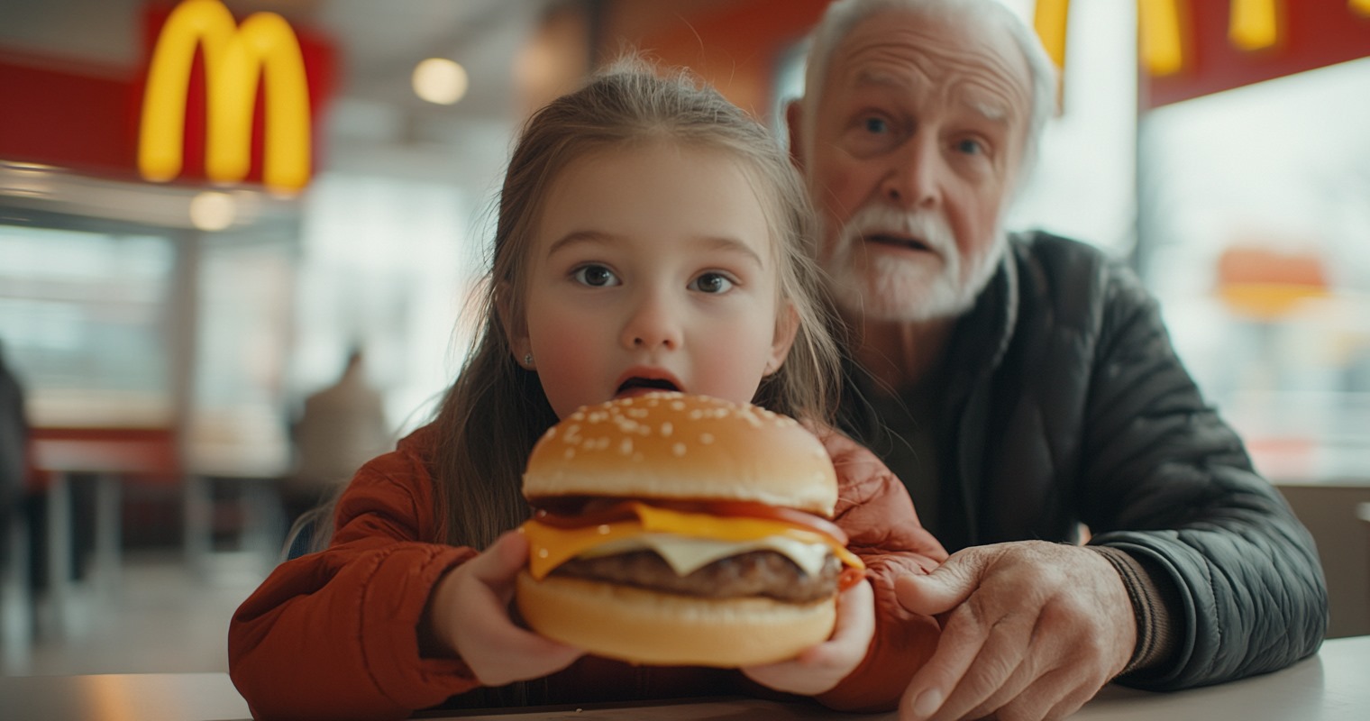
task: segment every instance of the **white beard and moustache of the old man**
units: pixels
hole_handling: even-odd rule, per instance
[[[867,254],[864,237],[912,236],[932,254]],[[823,229],[823,237],[834,237]],[[970,310],[1007,245],[1001,228],[978,255],[963,258],[941,212],[866,206],[822,252],[837,306],[871,321],[926,322]],[[934,258],[936,256],[936,258]]]

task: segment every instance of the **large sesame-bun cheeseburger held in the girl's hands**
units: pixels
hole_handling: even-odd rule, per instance
[[[737,668],[826,640],[864,578],[829,518],[837,477],[795,419],[652,392],[586,406],[534,445],[516,604],[538,633],[647,665]]]

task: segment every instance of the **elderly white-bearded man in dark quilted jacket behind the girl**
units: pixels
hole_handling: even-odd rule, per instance
[[[899,587],[943,621],[907,718],[1058,718],[1114,679],[1280,669],[1326,629],[1311,537],[1137,278],[1004,232],[1054,93],[1036,36],[995,0],[841,0],[789,108],[859,366],[848,432],[960,550]]]

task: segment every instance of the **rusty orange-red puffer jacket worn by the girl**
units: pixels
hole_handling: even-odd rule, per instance
[[[477,554],[437,540],[427,472],[434,440],[432,428],[422,428],[362,467],[338,503],[332,546],[277,566],[233,615],[230,676],[256,718],[403,718],[480,688],[459,658],[419,652],[418,626],[434,584]],[[938,637],[933,618],[897,603],[893,580],[930,572],[947,551],[918,522],[907,491],[884,463],[837,433],[823,443],[840,482],[836,522],[870,567],[877,626],[866,659],[818,700],[843,710],[892,709]],[[732,670],[585,657],[547,677],[544,700],[747,688],[755,689]]]

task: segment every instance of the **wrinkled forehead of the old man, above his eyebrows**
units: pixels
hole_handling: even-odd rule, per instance
[[[825,95],[836,88],[926,92],[996,121],[1032,112],[1028,60],[1008,29],[971,14],[906,10],[859,22],[833,52]]]

